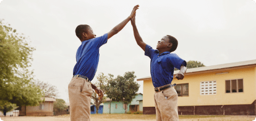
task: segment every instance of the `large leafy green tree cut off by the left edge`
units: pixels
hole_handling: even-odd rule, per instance
[[[16,33],[0,20],[0,101],[17,106],[35,106],[41,102],[41,90],[30,83],[32,52],[27,37]]]

